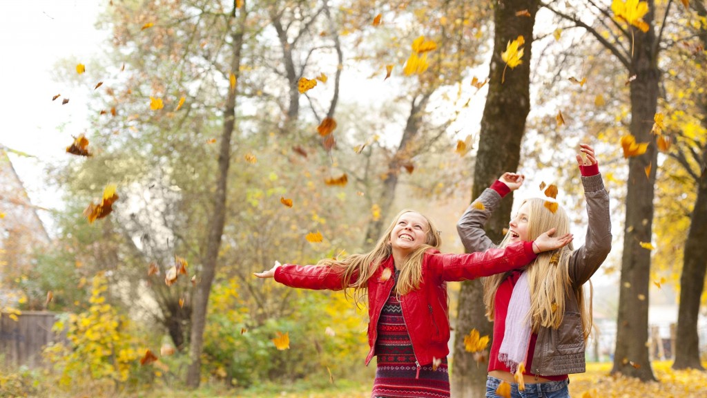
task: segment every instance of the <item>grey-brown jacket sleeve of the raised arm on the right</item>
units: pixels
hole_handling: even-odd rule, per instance
[[[612,249],[612,222],[609,217],[609,193],[604,189],[602,175],[582,177],[587,200],[587,237],[569,261],[569,275],[576,288],[597,272]]]

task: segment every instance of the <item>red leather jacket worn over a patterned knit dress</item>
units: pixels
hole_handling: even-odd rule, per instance
[[[419,373],[421,365],[449,354],[450,326],[447,306],[447,282],[489,276],[525,266],[536,258],[532,242],[518,242],[505,249],[483,253],[440,254],[428,251],[422,261],[422,282],[418,290],[400,297],[402,315],[412,342]],[[368,345],[366,365],[375,355],[378,317],[395,284],[394,278],[380,280],[385,268],[395,271],[393,258],[385,259],[368,279]],[[275,280],[292,288],[342,290],[341,275],[325,266],[285,264],[276,269]]]

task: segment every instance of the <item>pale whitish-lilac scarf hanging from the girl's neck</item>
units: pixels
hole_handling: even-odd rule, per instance
[[[503,342],[498,350],[498,360],[510,368],[510,373],[515,373],[519,363],[525,363],[530,344],[528,312],[530,312],[530,286],[527,272],[524,271],[513,286],[513,294],[510,295],[506,331],[503,333]]]

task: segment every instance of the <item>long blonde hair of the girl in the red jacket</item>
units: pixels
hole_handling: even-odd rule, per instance
[[[354,289],[354,301],[356,305],[358,305],[368,293],[368,279],[375,274],[375,271],[378,271],[378,267],[383,261],[392,256],[390,239],[393,228],[399,218],[408,212],[421,215],[426,220],[428,229],[425,234],[425,243],[415,249],[411,254],[408,254],[402,264],[397,264],[400,275],[398,277],[396,290],[399,295],[405,295],[412,290],[419,289],[422,280],[422,258],[425,251],[438,249],[442,245],[442,239],[432,220],[415,210],[405,209],[399,212],[387,229],[385,229],[382,237],[378,239],[373,250],[368,253],[351,254],[343,260],[325,258],[317,263],[317,266],[329,266],[333,271],[343,273],[342,288]]]

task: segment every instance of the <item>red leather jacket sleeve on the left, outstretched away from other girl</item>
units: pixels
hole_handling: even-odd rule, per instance
[[[342,290],[342,274],[328,266],[285,264],[275,270],[275,280],[291,288]]]

